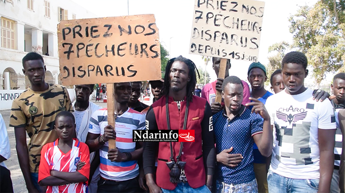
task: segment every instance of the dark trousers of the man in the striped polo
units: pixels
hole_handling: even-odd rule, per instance
[[[139,187],[138,177],[120,182],[101,178],[97,193],[142,193],[142,189]]]

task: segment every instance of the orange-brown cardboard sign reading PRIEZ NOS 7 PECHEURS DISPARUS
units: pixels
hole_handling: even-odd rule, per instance
[[[161,79],[153,14],[61,21],[58,42],[64,85]]]

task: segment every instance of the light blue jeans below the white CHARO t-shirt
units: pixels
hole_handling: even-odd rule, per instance
[[[269,170],[267,174],[269,193],[317,193],[319,179],[285,178]]]

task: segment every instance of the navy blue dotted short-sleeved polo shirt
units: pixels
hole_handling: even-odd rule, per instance
[[[248,183],[255,179],[253,167],[253,136],[262,133],[264,120],[243,105],[231,120],[224,110],[213,115],[216,152],[234,147],[231,154],[242,154],[243,160],[236,167],[217,163],[217,180],[227,184]]]

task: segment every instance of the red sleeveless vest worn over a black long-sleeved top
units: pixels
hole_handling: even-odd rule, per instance
[[[195,142],[184,142],[182,148],[182,155],[180,161],[187,162],[184,171],[188,180],[188,184],[192,188],[200,188],[206,184],[206,172],[203,160],[202,151],[202,130],[201,121],[204,118],[205,106],[207,100],[193,96],[193,102],[189,104],[188,119],[186,130],[195,130]],[[186,110],[186,97],[180,104],[180,112],[178,112],[177,104],[169,97],[169,117],[170,128],[172,130],[183,129],[183,121]],[[166,118],[166,97],[152,104],[156,122],[159,130],[167,130]],[[179,153],[180,142],[172,142],[173,157],[176,161],[176,156]],[[174,190],[177,184],[170,182],[170,169],[166,162],[170,162],[171,152],[169,142],[159,142],[158,150],[158,167],[157,167],[157,185],[163,189]]]

